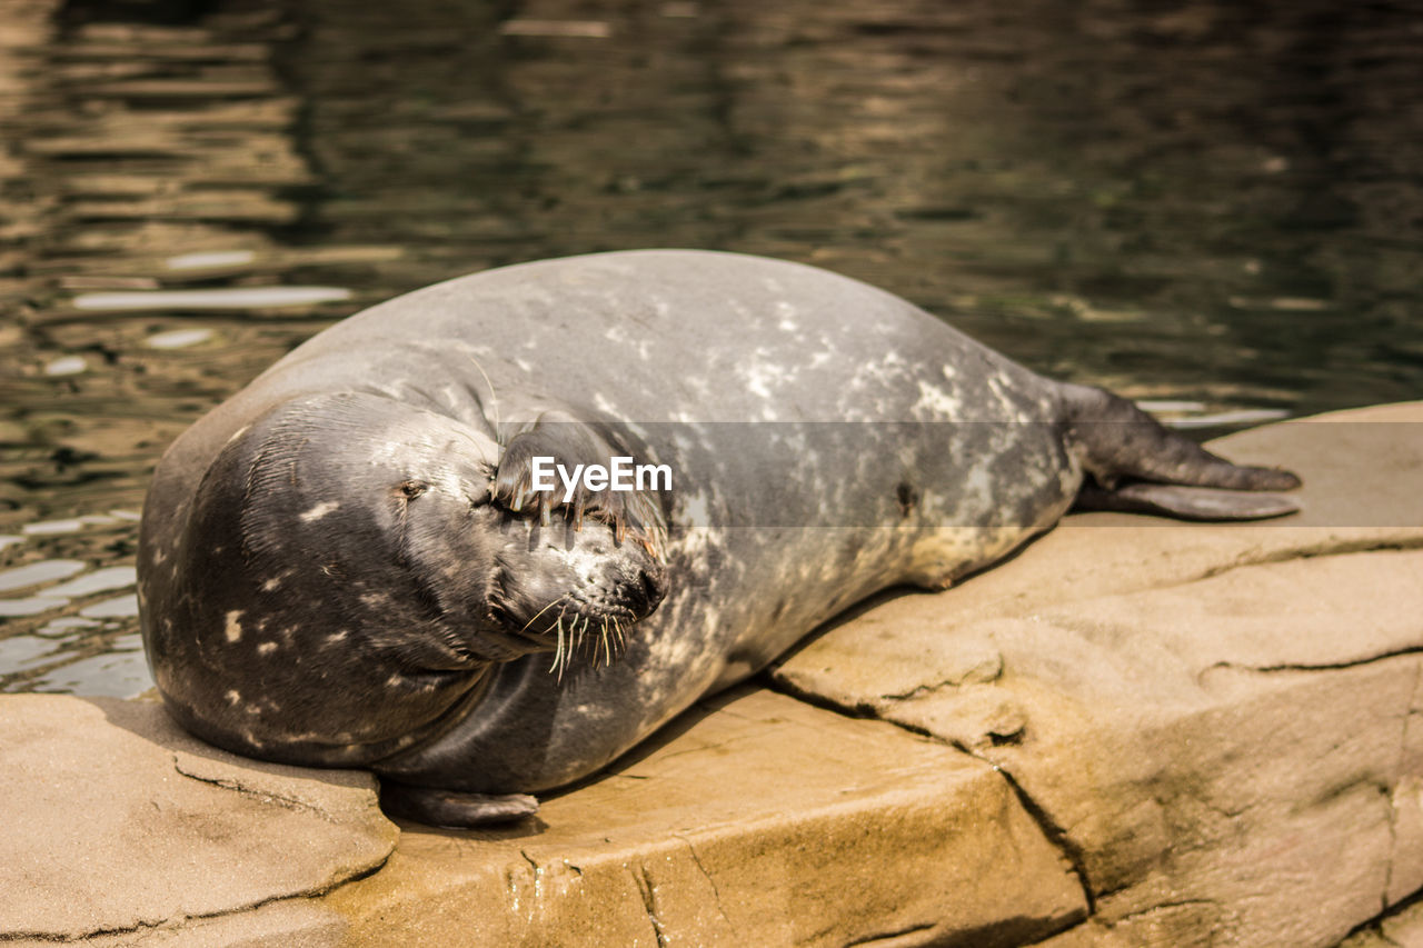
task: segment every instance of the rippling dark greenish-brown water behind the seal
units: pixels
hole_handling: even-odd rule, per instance
[[[487,266],[818,263],[1202,433],[1417,397],[1417,13],[0,0],[0,689],[147,688],[164,446]]]

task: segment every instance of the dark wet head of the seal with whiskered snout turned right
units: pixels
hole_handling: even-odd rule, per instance
[[[566,665],[589,632],[610,658],[662,599],[660,544],[509,510],[499,458],[475,426],[364,393],[233,436],[144,584],[178,717],[240,753],[360,764],[437,734],[494,662]]]

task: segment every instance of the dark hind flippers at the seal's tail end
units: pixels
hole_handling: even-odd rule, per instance
[[[1184,520],[1259,520],[1299,510],[1278,494],[1299,477],[1231,464],[1171,431],[1126,399],[1091,386],[1062,386],[1069,441],[1091,480],[1083,510],[1124,510]]]

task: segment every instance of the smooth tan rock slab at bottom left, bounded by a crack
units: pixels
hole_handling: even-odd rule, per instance
[[[161,706],[0,697],[0,937],[144,932],[319,895],[381,865],[370,774],[243,760]]]

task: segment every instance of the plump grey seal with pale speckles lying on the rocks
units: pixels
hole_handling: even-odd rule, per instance
[[[670,487],[536,490],[615,458]],[[387,809],[472,826],[1074,501],[1274,517],[1295,504],[1258,491],[1298,483],[825,270],[544,260],[351,316],[182,434],[144,508],[142,632],[198,736],[369,767]]]

